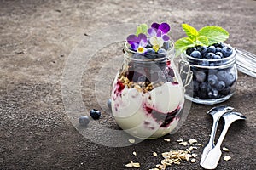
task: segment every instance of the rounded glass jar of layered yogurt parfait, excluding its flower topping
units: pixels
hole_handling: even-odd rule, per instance
[[[125,59],[113,81],[113,116],[126,133],[140,139],[171,133],[180,121],[183,82],[173,62],[173,43],[169,44],[166,53],[138,54],[125,43]]]

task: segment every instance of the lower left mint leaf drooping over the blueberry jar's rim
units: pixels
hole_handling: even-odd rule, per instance
[[[183,37],[177,40],[174,44],[176,55],[180,55],[187,48],[195,47],[195,43],[189,37]]]

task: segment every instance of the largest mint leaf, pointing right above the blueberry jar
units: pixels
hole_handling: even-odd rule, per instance
[[[200,36],[208,38],[208,45],[224,42],[229,38],[229,32],[220,26],[205,26],[198,31]]]

